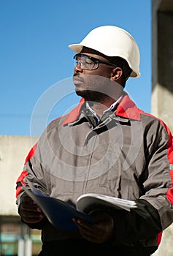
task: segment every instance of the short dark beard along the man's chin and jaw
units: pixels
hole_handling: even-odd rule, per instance
[[[91,102],[106,102],[109,98],[108,95],[103,94],[100,91],[76,90],[76,94],[86,101]]]

